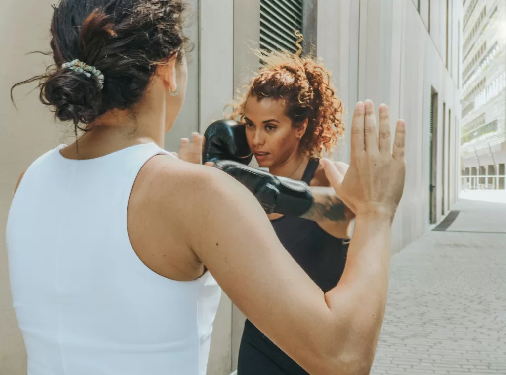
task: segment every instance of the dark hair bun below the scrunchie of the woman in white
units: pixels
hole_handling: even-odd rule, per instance
[[[45,82],[44,98],[61,121],[90,123],[100,114],[102,89],[93,75],[61,69]]]

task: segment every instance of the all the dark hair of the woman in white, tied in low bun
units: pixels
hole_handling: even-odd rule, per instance
[[[191,48],[184,33],[186,9],[186,0],[60,0],[51,26],[54,66],[12,90],[38,82],[41,101],[75,128],[110,110],[130,110],[157,66],[181,59]],[[74,60],[99,69],[103,89],[94,75],[61,68]]]

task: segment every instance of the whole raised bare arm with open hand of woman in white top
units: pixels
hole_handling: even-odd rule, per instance
[[[326,295],[285,251],[256,198],[232,177],[194,166],[198,173],[184,189],[192,205],[178,210],[187,243],[225,293],[311,373],[369,373],[385,311],[391,221],[405,175],[403,128],[398,123],[393,158],[385,139],[378,151],[371,109],[364,122],[363,105],[357,108],[349,173],[337,181],[335,165],[325,167],[336,193],[357,209],[342,281]],[[383,135],[386,122],[383,116]]]

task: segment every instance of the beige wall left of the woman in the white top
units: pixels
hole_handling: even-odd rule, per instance
[[[5,228],[13,190],[22,171],[40,154],[57,146],[62,133],[51,112],[38,102],[29,87],[16,91],[14,108],[11,86],[39,74],[50,61],[42,55],[26,53],[49,48],[52,0],[33,0],[29,8],[19,1],[0,2],[0,373],[26,374],[25,351],[12,308],[5,247]],[[28,6],[28,2],[23,4]],[[28,11],[29,9],[29,11]],[[30,27],[27,27],[30,25]],[[31,86],[33,88],[33,85]]]

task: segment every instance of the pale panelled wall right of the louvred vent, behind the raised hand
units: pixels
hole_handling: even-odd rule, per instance
[[[394,250],[429,229],[429,118],[431,87],[438,106],[438,221],[457,198],[460,93],[457,71],[461,3],[449,0],[448,68],[446,2],[421,0],[319,0],[318,56],[333,72],[334,84],[350,113],[358,100],[390,106],[392,130],[403,118],[408,138],[406,188],[394,223]],[[429,18],[430,9],[430,18]],[[336,22],[337,20],[337,22]],[[429,22],[430,30],[429,33]],[[461,40],[461,38],[460,38]],[[446,103],[443,164],[443,102]],[[449,110],[451,119],[448,119]],[[334,157],[349,160],[349,132]],[[445,176],[443,178],[443,176]],[[451,177],[447,177],[451,176]],[[444,187],[444,188],[443,188]]]

